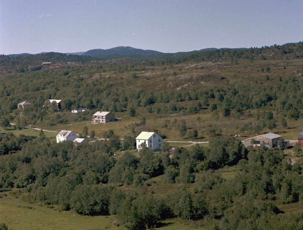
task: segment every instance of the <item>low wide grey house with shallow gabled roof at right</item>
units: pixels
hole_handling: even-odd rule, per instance
[[[261,145],[265,145],[268,148],[274,148],[274,141],[279,141],[281,137],[282,136],[270,132],[244,140],[244,146],[247,148],[250,145],[253,145],[254,147],[260,147]],[[289,141],[283,144],[283,148],[289,147]]]

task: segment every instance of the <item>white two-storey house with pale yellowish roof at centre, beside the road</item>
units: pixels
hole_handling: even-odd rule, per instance
[[[138,151],[141,149],[141,144],[145,143],[146,147],[151,148],[152,150],[156,151],[162,146],[162,138],[156,134],[155,132],[141,132],[136,137],[137,142],[137,149]]]

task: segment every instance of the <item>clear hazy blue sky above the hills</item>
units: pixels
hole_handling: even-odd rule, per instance
[[[303,40],[303,1],[0,0],[0,54],[165,53]]]

